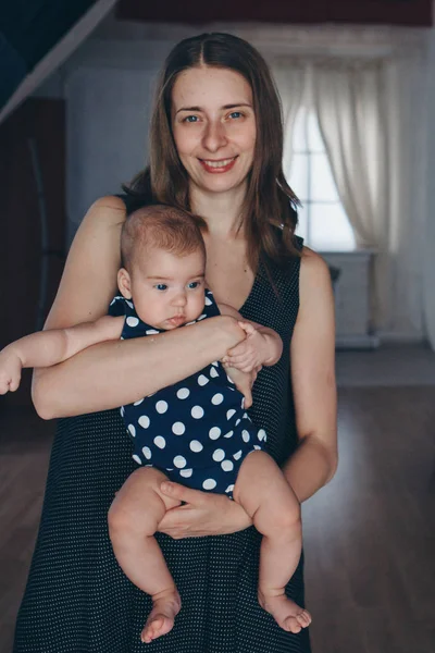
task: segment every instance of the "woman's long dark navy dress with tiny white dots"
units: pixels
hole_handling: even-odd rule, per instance
[[[284,355],[264,368],[249,415],[283,465],[297,444],[288,350],[299,306],[299,260],[260,267],[240,312],[274,329]],[[120,410],[62,419],[55,436],[39,535],[16,624],[14,653],[310,653],[308,630],[282,630],[257,600],[260,535],[172,540],[158,534],[182,596],[173,630],[151,644],[140,630],[151,608],[120,569],[107,514],[137,464]],[[303,605],[302,563],[286,589]]]

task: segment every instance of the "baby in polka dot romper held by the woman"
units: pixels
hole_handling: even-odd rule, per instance
[[[0,353],[0,394],[17,389],[23,367],[48,367],[105,340],[157,334],[219,315],[239,321],[259,365],[272,366],[283,350],[271,329],[244,321],[216,305],[206,289],[206,248],[188,213],[150,206],[132,213],[121,236],[121,292],[110,316],[96,322],[25,336]],[[152,597],[141,632],[146,643],[169,632],[181,599],[153,537],[167,509],[179,502],[162,494],[167,478],[226,494],[262,533],[258,595],[285,630],[299,632],[310,614],[285,595],[301,552],[300,509],[275,461],[263,451],[266,434],[245,408],[251,405],[249,365],[214,361],[196,374],[121,408],[140,465],[109,510],[109,532],[126,576]],[[253,370],[254,372],[256,370]]]

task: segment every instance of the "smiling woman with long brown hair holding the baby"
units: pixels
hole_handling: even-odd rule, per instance
[[[216,300],[283,338],[286,356],[259,373],[251,417],[268,431],[269,452],[302,502],[333,477],[337,461],[333,297],[326,266],[294,238],[296,198],[282,172],[282,146],[276,91],[253,48],[220,34],[178,44],[157,93],[150,168],[134,193],[90,208],[47,326],[107,312],[126,211],[158,200],[203,217],[207,281]],[[96,345],[35,375],[41,417],[79,417],[61,420],[54,442],[15,653],[142,650],[149,599],[119,569],[107,532],[113,495],[134,469],[114,408],[228,349],[237,355],[243,334],[217,317],[152,340]],[[258,604],[259,534],[243,508],[175,483],[163,490],[184,502],[164,517],[159,537],[183,609],[176,628],[149,650],[308,653],[307,631],[285,632]],[[301,564],[287,593],[302,604]]]

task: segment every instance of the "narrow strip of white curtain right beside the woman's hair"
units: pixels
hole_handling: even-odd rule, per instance
[[[303,61],[286,60],[271,64],[281,97],[284,126],[283,169],[290,170],[293,158],[293,127],[301,106],[307,85],[307,65]]]

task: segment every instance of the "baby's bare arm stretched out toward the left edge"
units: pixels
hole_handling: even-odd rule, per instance
[[[104,316],[67,329],[38,331],[0,352],[0,394],[14,392],[23,368],[45,368],[62,362],[97,343],[120,338],[124,317]]]

